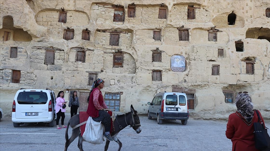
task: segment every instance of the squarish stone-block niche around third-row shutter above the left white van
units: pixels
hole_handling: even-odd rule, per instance
[[[48,52],[51,54],[48,54]],[[54,58],[52,58],[54,56]],[[50,58],[46,63],[45,59]],[[63,49],[50,47],[32,47],[30,52],[30,66],[31,69],[61,71],[65,60],[65,53]]]

